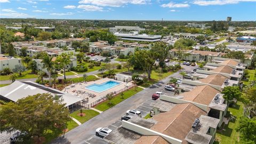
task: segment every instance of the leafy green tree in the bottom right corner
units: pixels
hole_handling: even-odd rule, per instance
[[[239,117],[236,131],[239,132],[239,142],[253,144],[256,143],[256,117]]]

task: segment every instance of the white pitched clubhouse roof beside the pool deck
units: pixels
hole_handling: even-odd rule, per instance
[[[0,95],[14,102],[21,98],[28,97],[28,95],[35,95],[37,93],[50,93],[52,95],[57,95],[60,97],[60,99],[63,99],[63,103],[66,103],[66,107],[83,100],[75,95],[64,93],[62,91],[52,89],[51,87],[46,87],[31,81],[15,81],[10,85],[0,87]]]

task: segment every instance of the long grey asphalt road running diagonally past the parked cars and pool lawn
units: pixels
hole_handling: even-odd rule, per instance
[[[192,66],[182,67],[185,68],[182,71],[188,72],[195,68]],[[105,127],[116,122],[125,114],[126,110],[139,107],[143,102],[150,99],[153,93],[163,90],[164,86],[169,82],[170,77],[181,77],[181,75],[177,72],[164,78],[162,81],[134,94],[133,97],[118,103],[115,107],[104,111],[100,115],[93,117],[89,121],[67,132],[65,138],[59,137],[52,141],[52,143],[87,143],[85,141],[95,134],[95,130],[98,127]]]

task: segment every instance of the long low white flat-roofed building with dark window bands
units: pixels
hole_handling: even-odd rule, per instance
[[[129,34],[117,32],[114,35],[117,36],[118,39],[142,42],[157,42],[162,38],[161,35],[139,34],[138,31],[130,31]]]

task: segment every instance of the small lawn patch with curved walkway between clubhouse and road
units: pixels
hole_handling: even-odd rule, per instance
[[[97,111],[94,110],[87,110],[87,109],[83,109],[83,113],[85,114],[85,116],[79,116],[80,110],[74,111],[73,113],[70,114],[71,117],[74,117],[75,119],[77,119],[77,121],[79,121],[80,123],[84,123],[86,121],[88,121],[89,119],[93,118],[94,116],[99,115],[100,113],[98,113]]]

